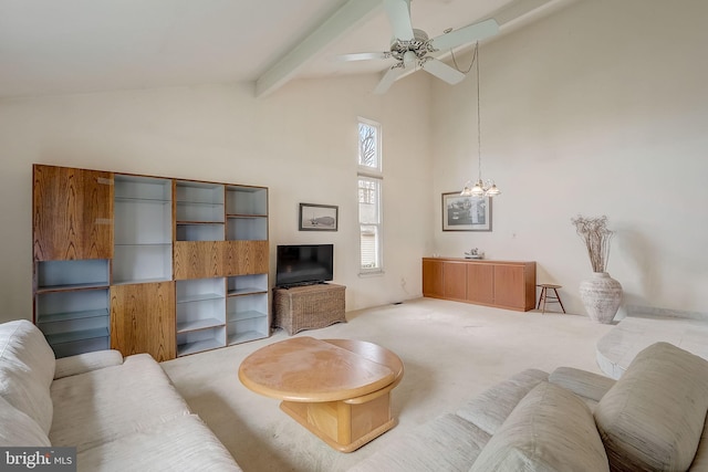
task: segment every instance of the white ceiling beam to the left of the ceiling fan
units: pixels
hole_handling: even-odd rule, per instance
[[[266,96],[281,87],[333,41],[347,34],[379,10],[383,10],[382,0],[347,1],[258,77],[256,96]]]

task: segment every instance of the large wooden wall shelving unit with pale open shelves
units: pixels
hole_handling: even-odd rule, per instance
[[[35,165],[34,322],[58,357],[270,335],[268,189]]]

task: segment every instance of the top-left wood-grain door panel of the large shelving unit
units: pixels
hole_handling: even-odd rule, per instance
[[[35,261],[113,258],[113,172],[34,165]]]

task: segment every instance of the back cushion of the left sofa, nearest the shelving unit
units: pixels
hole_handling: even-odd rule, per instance
[[[0,325],[0,397],[49,432],[53,407],[50,385],[54,352],[42,332],[27,319]]]

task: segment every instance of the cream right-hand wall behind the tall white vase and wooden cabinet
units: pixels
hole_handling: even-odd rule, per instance
[[[606,214],[624,305],[708,312],[708,2],[582,0],[480,46],[493,230],[442,232],[440,193],[477,177],[475,78],[434,84],[430,252],[534,260],[566,308],[591,273],[570,219]]]

